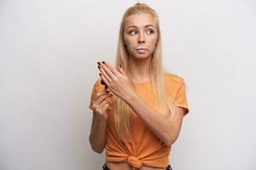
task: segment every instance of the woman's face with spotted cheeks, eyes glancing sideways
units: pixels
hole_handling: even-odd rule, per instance
[[[151,14],[132,14],[125,20],[124,40],[130,57],[147,59],[154,52],[158,32]]]

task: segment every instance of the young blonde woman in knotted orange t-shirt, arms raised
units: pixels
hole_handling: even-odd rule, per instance
[[[106,148],[103,169],[172,169],[170,150],[189,108],[183,78],[163,71],[154,9],[144,3],[128,8],[115,66],[97,64],[90,144],[97,153]]]

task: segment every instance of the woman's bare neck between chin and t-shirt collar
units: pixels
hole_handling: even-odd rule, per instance
[[[151,58],[135,60],[130,58],[130,67],[136,82],[150,81]]]

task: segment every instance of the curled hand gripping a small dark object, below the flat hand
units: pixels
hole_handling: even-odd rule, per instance
[[[93,111],[96,112],[96,116],[100,116],[103,120],[108,119],[108,98],[111,97],[112,94],[108,94],[107,91],[96,93],[96,99],[93,100],[92,107]]]

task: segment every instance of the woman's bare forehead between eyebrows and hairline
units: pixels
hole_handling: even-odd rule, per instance
[[[148,25],[156,26],[152,14],[131,14],[125,20],[125,28],[129,26],[144,27]]]

